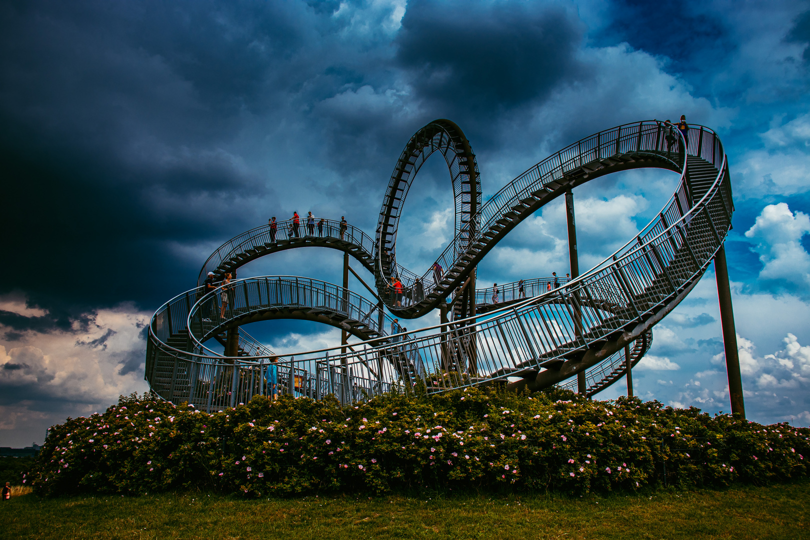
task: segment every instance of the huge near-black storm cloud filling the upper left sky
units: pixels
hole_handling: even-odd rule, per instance
[[[64,329],[98,305],[155,305],[165,287],[188,288],[177,275],[193,269],[169,244],[241,230],[246,218],[231,202],[273,195],[223,147],[241,117],[265,114],[296,83],[284,66],[304,41],[303,11],[272,2],[0,10],[0,219],[13,261],[0,291],[20,288],[57,313],[8,324]]]

